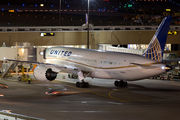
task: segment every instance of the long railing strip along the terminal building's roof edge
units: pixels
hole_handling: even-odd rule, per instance
[[[90,30],[156,30],[158,26],[93,26]],[[86,31],[84,26],[41,26],[41,27],[0,27],[0,32],[56,32]],[[180,26],[170,26],[170,30],[180,30]]]

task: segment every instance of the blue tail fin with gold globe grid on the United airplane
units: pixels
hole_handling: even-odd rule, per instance
[[[171,18],[172,16],[167,16],[163,19],[156,33],[151,39],[148,48],[143,53],[143,56],[159,62],[162,61]]]

